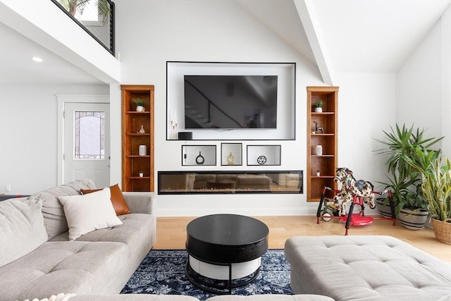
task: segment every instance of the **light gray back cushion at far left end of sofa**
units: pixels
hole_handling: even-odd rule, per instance
[[[32,252],[47,241],[42,201],[7,199],[0,202],[0,266]]]

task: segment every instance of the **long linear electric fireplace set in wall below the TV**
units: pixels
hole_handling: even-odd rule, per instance
[[[159,171],[159,195],[303,193],[302,171]]]

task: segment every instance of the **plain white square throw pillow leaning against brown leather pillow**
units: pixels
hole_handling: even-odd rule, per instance
[[[110,197],[109,188],[87,195],[58,197],[68,221],[69,240],[97,229],[122,225]]]

